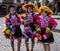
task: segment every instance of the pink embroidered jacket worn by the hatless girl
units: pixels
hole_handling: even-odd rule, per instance
[[[16,16],[17,15],[17,16]],[[14,16],[10,16],[10,14],[8,14],[7,16],[5,16],[5,24],[9,24],[9,22],[11,24],[15,24],[16,26],[19,26],[21,24],[21,19],[19,18],[19,15],[16,14]]]

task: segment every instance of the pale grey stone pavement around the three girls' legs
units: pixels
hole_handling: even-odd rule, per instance
[[[60,22],[60,21],[58,21]],[[11,50],[11,45],[10,45],[10,40],[6,39],[4,36],[2,36],[3,28],[5,27],[4,24],[4,19],[0,18],[0,51],[12,51]],[[58,26],[59,28],[59,26]],[[55,42],[54,44],[51,44],[51,51],[60,51],[60,33],[53,32]],[[24,44],[24,39],[22,39],[22,44],[21,44],[21,51],[26,51],[25,44]],[[15,49],[17,51],[17,40],[15,40]],[[31,49],[31,42],[29,40],[29,48]],[[38,43],[37,44],[37,38],[35,38],[35,46],[34,46],[34,51],[44,51],[42,44]]]

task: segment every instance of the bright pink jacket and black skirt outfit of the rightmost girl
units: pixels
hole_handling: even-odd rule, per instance
[[[49,16],[46,16],[45,18],[43,18],[42,16],[36,17],[36,25],[38,26],[39,29],[39,30],[37,29],[37,36],[40,42],[43,43],[54,42],[52,30],[56,28],[57,23],[52,17]]]

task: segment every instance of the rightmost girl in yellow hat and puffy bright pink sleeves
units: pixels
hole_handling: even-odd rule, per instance
[[[43,44],[45,51],[50,51],[50,43],[54,42],[54,37],[52,31],[55,30],[57,23],[51,17],[53,14],[52,10],[47,6],[42,6],[39,8],[40,17],[36,20],[37,22],[37,37],[38,40]]]

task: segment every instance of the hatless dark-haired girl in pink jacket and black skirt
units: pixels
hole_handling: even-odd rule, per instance
[[[9,6],[9,14],[5,16],[5,24],[6,29],[4,30],[5,37],[11,40],[12,50],[14,49],[14,39],[17,39],[17,51],[20,51],[21,37],[22,32],[20,29],[21,21],[19,19],[19,15],[15,11],[15,7],[13,5]]]

